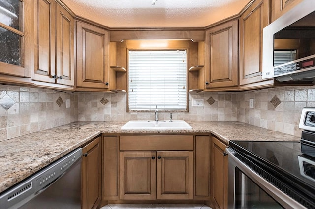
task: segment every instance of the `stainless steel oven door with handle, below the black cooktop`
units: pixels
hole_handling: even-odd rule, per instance
[[[235,157],[236,151],[226,148],[226,153],[229,209],[305,209]]]

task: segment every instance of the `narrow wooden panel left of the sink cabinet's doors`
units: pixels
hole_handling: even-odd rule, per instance
[[[103,197],[105,200],[118,200],[118,139],[117,136],[103,138]]]

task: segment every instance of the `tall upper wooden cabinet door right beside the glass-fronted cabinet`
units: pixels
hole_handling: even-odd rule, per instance
[[[34,71],[32,80],[55,83],[55,0],[35,2],[34,21]]]

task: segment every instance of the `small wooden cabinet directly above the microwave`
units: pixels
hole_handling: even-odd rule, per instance
[[[271,21],[275,21],[277,18],[282,16],[285,12],[292,9],[297,4],[301,3],[303,0],[272,0],[272,13]]]

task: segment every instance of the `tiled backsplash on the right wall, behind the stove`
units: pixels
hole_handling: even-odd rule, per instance
[[[254,99],[254,108],[249,108]],[[301,136],[299,122],[303,107],[315,107],[315,86],[280,87],[238,95],[238,121]]]

